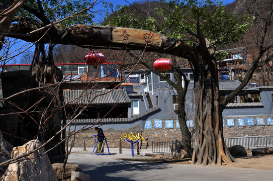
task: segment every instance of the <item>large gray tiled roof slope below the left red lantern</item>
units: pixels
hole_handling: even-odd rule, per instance
[[[96,105],[96,104],[126,104],[131,100],[125,89],[88,89],[63,91],[64,102],[68,104]]]

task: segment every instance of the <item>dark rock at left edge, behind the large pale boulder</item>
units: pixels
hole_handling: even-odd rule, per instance
[[[4,139],[2,132],[0,132],[0,163],[9,160],[12,157],[12,150],[13,145]],[[0,166],[0,178],[7,168],[8,166]]]

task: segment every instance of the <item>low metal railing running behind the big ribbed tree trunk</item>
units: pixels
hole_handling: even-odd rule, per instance
[[[153,153],[170,153],[170,146],[173,141],[168,142],[152,142]],[[257,137],[240,137],[240,138],[225,138],[227,147],[241,145],[247,149],[263,148],[273,146],[273,136],[257,136]],[[193,143],[192,143],[193,145]]]

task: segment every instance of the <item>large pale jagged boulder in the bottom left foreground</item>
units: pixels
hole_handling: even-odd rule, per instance
[[[29,153],[41,145],[42,144],[40,141],[31,140],[23,146],[14,147],[12,151],[12,158]],[[2,176],[1,180],[58,181],[50,160],[47,154],[44,153],[45,148],[42,147],[38,151],[31,153],[28,156],[20,158],[20,161],[9,164],[9,167]]]

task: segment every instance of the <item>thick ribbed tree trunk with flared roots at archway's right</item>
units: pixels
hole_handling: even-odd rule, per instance
[[[196,138],[192,164],[231,164],[223,136],[223,119],[219,105],[219,86],[215,51],[195,48],[195,126]],[[213,68],[214,67],[214,68]]]

